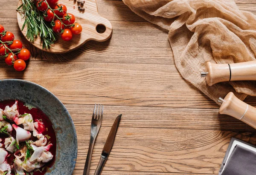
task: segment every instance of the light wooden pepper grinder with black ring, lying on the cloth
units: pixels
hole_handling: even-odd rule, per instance
[[[207,62],[205,71],[201,77],[206,77],[209,86],[224,81],[256,80],[256,60],[233,64]]]

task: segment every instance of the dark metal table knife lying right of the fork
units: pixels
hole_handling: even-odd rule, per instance
[[[107,141],[102,150],[102,155],[100,157],[99,164],[97,166],[97,169],[96,169],[94,175],[100,175],[100,173],[102,172],[103,166],[104,166],[105,162],[107,161],[109,153],[111,152],[111,149],[113,147],[115,137],[116,137],[116,132],[117,132],[121,117],[122,117],[122,114],[118,115],[115,122],[113,123],[113,126],[108,134]]]

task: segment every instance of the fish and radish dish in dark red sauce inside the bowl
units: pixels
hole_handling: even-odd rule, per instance
[[[44,175],[55,160],[49,118],[22,101],[0,102],[0,175]]]

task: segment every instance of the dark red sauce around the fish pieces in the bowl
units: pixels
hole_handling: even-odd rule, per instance
[[[12,106],[15,103],[15,100],[5,100],[0,102],[0,109],[5,109],[6,106]],[[47,171],[47,167],[51,167],[54,164],[55,161],[55,155],[56,155],[56,135],[54,132],[54,129],[52,127],[52,123],[49,120],[49,118],[42,112],[40,109],[32,108],[29,109],[28,107],[24,106],[24,102],[18,101],[18,109],[20,115],[23,115],[24,113],[31,114],[33,117],[34,122],[41,121],[44,126],[47,128],[46,130],[41,130],[43,135],[48,135],[50,138],[47,138],[47,144],[50,142],[53,144],[49,152],[52,153],[53,158],[51,161],[49,161],[45,166],[43,166],[40,171],[34,171],[33,175],[44,175]],[[13,122],[14,123],[14,122]],[[11,123],[12,124],[12,123]],[[14,123],[15,124],[15,123]],[[22,125],[21,125],[22,126]],[[33,134],[33,132],[31,132]],[[12,130],[12,137],[16,138],[16,131],[15,129]],[[0,138],[3,140],[2,143],[4,143],[4,139],[6,136],[0,134]],[[30,140],[36,141],[37,138],[35,138],[33,135],[31,136]],[[15,159],[14,153],[9,152],[9,157],[7,158],[8,164],[12,165],[13,160]],[[12,172],[12,175],[14,173]]]

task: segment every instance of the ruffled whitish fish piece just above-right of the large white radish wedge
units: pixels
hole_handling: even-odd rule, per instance
[[[14,117],[13,120],[17,125],[23,124],[24,129],[33,131],[34,121],[31,114],[25,113],[23,116]]]

